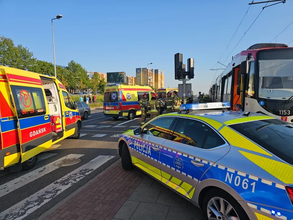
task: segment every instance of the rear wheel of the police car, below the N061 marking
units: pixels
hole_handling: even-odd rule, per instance
[[[202,202],[204,220],[249,220],[241,205],[230,194],[214,188],[204,195]]]

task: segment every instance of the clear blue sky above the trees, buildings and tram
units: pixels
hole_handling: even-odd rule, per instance
[[[125,71],[134,76],[136,68],[153,62],[149,67],[165,71],[165,87],[177,87],[181,82],[174,79],[174,54],[183,53],[186,67],[187,58],[194,58],[192,90],[208,92],[215,76],[209,69],[226,49],[250,2],[0,0],[0,35],[28,47],[39,60],[53,63],[51,19],[62,14],[63,18],[53,21],[57,65],[74,60],[88,71]],[[263,6],[251,5],[220,61],[228,57],[227,65],[241,50],[270,42],[293,21],[291,0],[264,9],[231,53]],[[292,40],[293,24],[277,37],[279,43]]]

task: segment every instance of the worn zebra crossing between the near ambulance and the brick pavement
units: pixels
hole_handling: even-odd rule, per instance
[[[0,176],[0,178],[2,178],[2,180],[0,179],[2,183],[2,185],[0,185],[0,200],[2,200],[3,202],[9,202],[7,199],[13,198],[13,204],[9,204],[10,207],[0,207],[0,219],[33,219],[30,217],[30,215],[34,211],[37,211],[39,208],[39,211],[43,211],[44,208],[42,207],[45,204],[49,203],[53,198],[56,198],[56,196],[69,189],[74,184],[77,184],[79,181],[87,177],[92,172],[96,171],[104,163],[110,161],[114,157],[115,156],[111,155],[96,155],[96,157],[93,159],[85,159],[87,158],[85,154],[68,154],[66,156],[58,158],[57,153],[40,154],[38,156],[38,161],[43,161],[42,164],[46,163],[46,161],[49,160],[48,163],[46,163],[42,167],[33,168],[32,171],[29,171],[23,175],[19,175],[21,173],[13,173],[15,174],[16,178],[5,183],[2,183],[3,180],[5,180],[5,174]],[[53,158],[56,160],[54,160]],[[54,161],[52,161],[52,159]],[[87,163],[81,163],[81,166],[74,170],[73,168],[69,168],[71,165],[78,164],[83,160],[85,162],[87,160],[89,161]],[[62,172],[63,176],[60,177],[60,175],[58,175],[60,174],[59,170],[61,167],[65,166],[68,167],[68,171],[64,171],[63,169],[64,175]],[[34,184],[38,182],[39,179],[48,180],[47,177],[50,174],[52,177],[57,176],[58,179],[56,178],[56,180],[52,178],[52,181],[50,180],[49,184],[34,188]],[[19,196],[19,192],[21,192],[20,190],[23,187],[25,188],[27,186],[30,186],[30,195],[26,198],[22,198],[21,196]],[[36,213],[34,213],[34,215],[36,215]]]

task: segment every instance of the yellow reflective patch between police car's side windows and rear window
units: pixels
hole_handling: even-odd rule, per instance
[[[244,138],[242,135],[238,134],[237,132],[233,131],[231,128],[227,126],[223,127],[219,132],[224,136],[224,138],[226,138],[227,141],[230,142],[230,144],[236,147],[272,156],[264,149],[249,141],[248,139]]]

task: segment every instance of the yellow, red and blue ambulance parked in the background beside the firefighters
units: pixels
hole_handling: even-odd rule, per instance
[[[150,101],[154,90],[149,86],[128,86],[118,83],[107,85],[104,93],[104,116],[114,119],[127,116],[132,120],[135,116],[141,115],[138,102],[144,93],[147,93],[147,100]]]

